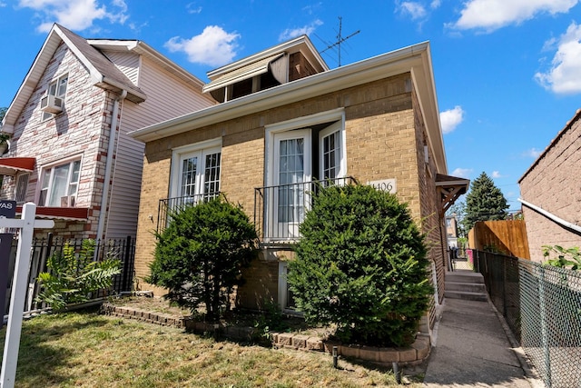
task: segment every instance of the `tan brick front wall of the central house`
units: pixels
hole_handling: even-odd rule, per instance
[[[155,240],[151,231],[157,223],[158,201],[169,194],[173,148],[222,137],[221,190],[231,202],[242,204],[252,219],[254,188],[264,185],[265,125],[341,107],[346,118],[348,174],[360,183],[397,179],[399,198],[409,203],[412,216],[420,223],[433,213],[430,209],[434,201],[432,198],[427,208],[420,206],[420,190],[432,190],[428,196],[433,196],[435,189],[433,184],[419,183],[418,160],[423,164],[423,155],[419,157],[423,145],[419,149],[417,136],[425,135],[425,129],[417,123],[423,122],[421,117],[414,116],[407,80],[409,75],[399,75],[148,143],[135,256],[137,276],[149,274],[148,265],[153,260]],[[250,277],[238,294],[243,305],[264,297],[277,301],[278,261],[266,260],[263,255],[245,274]]]

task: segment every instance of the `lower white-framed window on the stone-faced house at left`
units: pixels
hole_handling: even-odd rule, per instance
[[[41,206],[73,206],[79,187],[81,161],[44,168],[38,204]]]

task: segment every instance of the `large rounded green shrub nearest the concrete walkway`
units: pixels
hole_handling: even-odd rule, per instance
[[[407,204],[365,185],[320,188],[300,225],[288,283],[309,323],[343,342],[412,343],[433,289]]]

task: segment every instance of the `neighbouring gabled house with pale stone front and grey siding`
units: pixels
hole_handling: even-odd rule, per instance
[[[64,238],[134,237],[144,145],[127,133],[216,104],[202,85],[141,41],[54,25],[2,123],[2,198]]]

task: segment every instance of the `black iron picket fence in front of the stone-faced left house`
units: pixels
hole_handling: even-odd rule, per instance
[[[34,239],[30,254],[30,266],[28,272],[28,289],[26,290],[25,298],[25,313],[33,312],[35,310],[43,309],[46,306],[44,303],[36,301],[36,296],[40,292],[39,285],[36,282],[38,274],[47,272],[46,261],[53,254],[63,253],[65,245],[74,248],[74,252],[78,252],[82,245],[83,239],[62,239],[53,237],[48,234],[46,238]],[[12,249],[10,253],[10,269],[9,274],[14,274],[15,258],[16,258],[17,240],[13,240]],[[96,241],[95,244],[95,260],[103,260],[106,257],[117,258],[121,261],[121,273],[113,277],[113,286],[111,290],[100,290],[94,298],[106,296],[107,294],[116,294],[123,292],[130,292],[133,289],[133,275],[134,275],[134,259],[135,259],[135,240],[131,236],[124,239],[112,239],[106,241]],[[12,291],[12,281],[8,284],[6,290],[5,311],[8,313],[10,305],[10,294]]]

